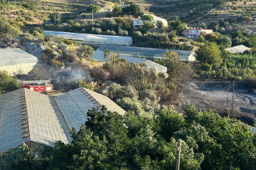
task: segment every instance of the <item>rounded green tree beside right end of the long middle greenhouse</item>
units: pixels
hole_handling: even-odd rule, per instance
[[[219,67],[222,62],[221,51],[215,42],[200,45],[200,48],[195,51],[195,54],[196,59],[203,64],[207,63]]]

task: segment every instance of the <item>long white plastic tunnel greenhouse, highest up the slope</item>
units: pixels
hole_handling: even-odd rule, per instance
[[[112,35],[95,35],[87,33],[69,33],[61,31],[44,31],[45,35],[56,35],[56,37],[64,37],[70,40],[79,40],[87,43],[99,43],[108,45],[126,45],[130,46],[133,44],[131,37],[121,37]]]

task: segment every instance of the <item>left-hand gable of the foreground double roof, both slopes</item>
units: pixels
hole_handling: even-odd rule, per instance
[[[0,152],[22,142],[54,147],[57,140],[71,142],[54,98],[30,89],[0,94]]]

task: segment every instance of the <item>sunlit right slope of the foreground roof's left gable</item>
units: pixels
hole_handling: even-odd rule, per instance
[[[25,89],[30,140],[54,147],[57,140],[71,142],[70,129],[64,122],[54,98]]]

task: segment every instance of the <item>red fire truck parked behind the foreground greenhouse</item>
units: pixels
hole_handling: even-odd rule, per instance
[[[20,81],[21,88],[31,89],[33,91],[37,91],[39,93],[52,93],[52,85],[50,81]]]

